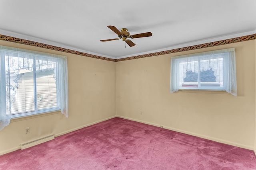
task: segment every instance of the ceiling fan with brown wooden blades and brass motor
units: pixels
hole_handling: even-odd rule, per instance
[[[108,27],[114,31],[119,38],[114,38],[114,39],[104,39],[104,40],[100,40],[100,41],[112,41],[112,40],[118,40],[118,39],[122,39],[123,41],[125,41],[130,47],[134,46],[135,44],[128,38],[141,38],[141,37],[150,37],[152,36],[151,32],[147,32],[147,33],[140,33],[140,34],[134,34],[134,35],[130,35],[130,33],[128,32],[128,29],[126,28],[122,28],[121,31],[119,31],[115,26],[111,26],[108,25]]]

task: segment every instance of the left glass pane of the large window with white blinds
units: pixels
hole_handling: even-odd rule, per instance
[[[18,57],[6,58],[6,72],[10,71],[10,80],[6,80],[10,81],[10,87],[6,87],[6,109],[7,113],[11,114],[30,112],[35,109],[33,71],[23,68],[19,64],[20,60]]]

